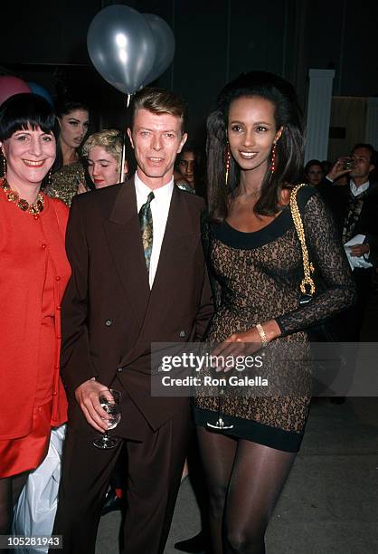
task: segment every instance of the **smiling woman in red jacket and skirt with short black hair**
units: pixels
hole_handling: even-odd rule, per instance
[[[9,533],[52,426],[67,419],[59,354],[68,208],[40,192],[55,159],[55,128],[40,96],[17,94],[0,106],[0,534]]]

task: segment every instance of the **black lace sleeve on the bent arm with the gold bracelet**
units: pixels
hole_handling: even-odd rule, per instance
[[[277,318],[283,336],[320,324],[348,308],[355,300],[354,280],[331,212],[317,194],[309,198],[303,210],[300,209],[301,192],[298,192],[298,205],[308,255],[322,286],[318,286],[317,278],[317,292],[313,300]]]

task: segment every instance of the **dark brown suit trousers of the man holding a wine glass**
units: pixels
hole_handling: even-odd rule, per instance
[[[126,515],[123,548],[128,554],[162,554],[187,454],[189,403],[174,419],[143,442],[122,439],[118,447],[99,450],[97,432],[69,426],[64,444],[61,486],[53,534],[62,535],[62,554],[95,552],[99,518],[122,444],[127,451]]]

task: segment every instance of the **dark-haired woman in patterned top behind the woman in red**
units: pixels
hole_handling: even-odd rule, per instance
[[[79,184],[85,186],[85,170],[79,152],[90,125],[90,110],[85,104],[70,101],[56,112],[60,126],[58,156],[45,192],[70,206],[73,196],[78,194]]]

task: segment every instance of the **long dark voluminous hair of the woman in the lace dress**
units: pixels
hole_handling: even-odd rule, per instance
[[[273,215],[280,208],[283,186],[298,182],[303,167],[304,135],[302,112],[292,85],[269,72],[242,73],[227,84],[218,97],[217,109],[207,119],[208,202],[210,216],[222,221],[228,213],[229,195],[235,196],[240,182],[240,168],[231,159],[228,186],[224,186],[225,149],[227,145],[228,113],[233,100],[258,96],[274,106],[276,129],[283,127],[277,141],[276,170],[268,167],[261,185],[261,195],[254,210],[260,215]]]

